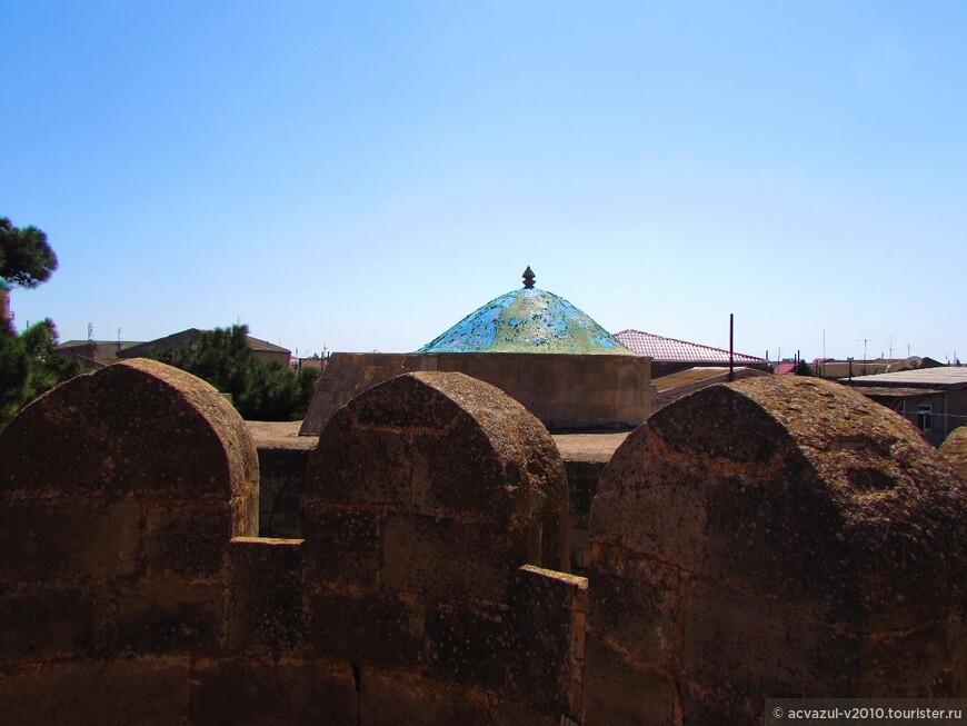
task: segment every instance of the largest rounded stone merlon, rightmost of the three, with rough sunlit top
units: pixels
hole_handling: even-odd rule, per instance
[[[599,483],[587,723],[963,695],[965,526],[934,449],[840,386],[762,377],[672,404]]]

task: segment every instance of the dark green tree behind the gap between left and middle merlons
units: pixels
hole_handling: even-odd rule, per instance
[[[259,421],[293,421],[306,415],[319,371],[295,371],[257,357],[248,347],[248,326],[216,328],[197,340],[156,350],[151,358],[207,380],[231,394],[242,418]]]

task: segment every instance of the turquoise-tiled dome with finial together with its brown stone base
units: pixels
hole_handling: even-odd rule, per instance
[[[630,428],[650,412],[651,359],[564,298],[525,286],[481,306],[412,354],[332,354],[300,434],[318,436],[350,398],[419,370],[467,374],[520,401],[552,430]]]

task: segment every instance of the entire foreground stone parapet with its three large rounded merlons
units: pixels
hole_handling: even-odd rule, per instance
[[[133,360],[0,436],[0,709],[30,724],[759,724],[765,696],[963,696],[965,491],[813,379],[706,389],[568,484],[500,390],[422,372],[339,409],[305,539],[206,384]],[[587,638],[587,660],[585,642]]]

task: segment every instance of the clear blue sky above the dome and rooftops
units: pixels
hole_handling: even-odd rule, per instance
[[[409,351],[530,265],[608,330],[967,358],[967,3],[0,0],[17,324]],[[891,342],[893,341],[893,342]]]

